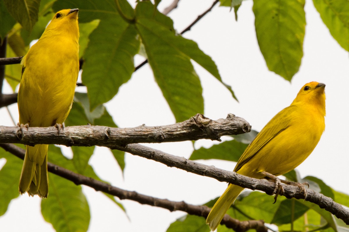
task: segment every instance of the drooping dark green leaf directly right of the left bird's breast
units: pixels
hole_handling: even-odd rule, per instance
[[[133,57],[138,53],[140,42],[134,26],[126,24],[121,17],[101,21],[89,40],[82,82],[87,86],[91,109],[95,109],[112,99],[131,78]]]

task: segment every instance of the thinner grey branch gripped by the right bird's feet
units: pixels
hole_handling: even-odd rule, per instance
[[[275,188],[275,184],[267,181],[266,179],[255,179],[232,171],[216,168],[214,166],[203,165],[201,163],[188,160],[184,157],[171,155],[140,144],[128,144],[126,147],[114,146],[110,148],[155,160],[169,167],[176,167],[201,176],[212,177],[221,182],[228,182],[247,189],[260,190],[269,195],[272,195]],[[282,195],[284,195],[286,198],[304,199],[304,194],[303,192],[299,191],[298,187],[291,185],[283,186],[285,192]],[[333,201],[332,198],[326,197],[325,195],[311,189],[308,189],[307,193],[308,195],[306,201],[317,204],[320,208],[329,211],[331,214],[335,215],[339,219],[342,219],[347,225],[349,225],[348,209],[343,208],[342,205]]]

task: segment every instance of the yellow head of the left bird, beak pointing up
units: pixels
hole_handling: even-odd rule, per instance
[[[60,10],[54,14],[51,22],[47,25],[43,35],[65,34],[79,39],[79,26],[77,23],[77,13],[79,9]]]

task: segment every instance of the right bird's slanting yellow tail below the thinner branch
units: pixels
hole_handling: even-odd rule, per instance
[[[237,196],[244,188],[229,184],[227,189],[224,191],[222,196],[217,200],[215,205],[212,207],[210,213],[207,216],[206,224],[209,225],[211,230],[216,230],[220,222],[222,221],[225,213],[231,206],[231,204],[235,201]]]

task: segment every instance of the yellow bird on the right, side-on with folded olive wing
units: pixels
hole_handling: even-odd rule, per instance
[[[234,171],[280,182],[276,176],[300,165],[318,144],[325,130],[325,114],[325,84],[305,84],[292,104],[277,113],[248,145]],[[243,189],[229,184],[207,216],[206,223],[211,230],[217,229]]]

